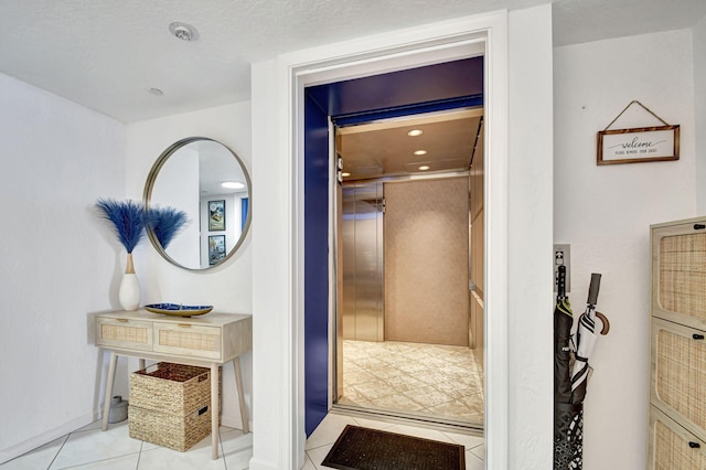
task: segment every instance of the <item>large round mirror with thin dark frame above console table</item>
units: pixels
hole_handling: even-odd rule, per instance
[[[228,259],[250,226],[250,178],[238,156],[207,137],[171,145],[145,183],[147,234],[171,264],[208,269]]]

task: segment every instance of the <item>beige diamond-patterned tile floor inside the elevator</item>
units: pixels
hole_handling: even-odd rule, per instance
[[[482,425],[482,360],[464,346],[345,340],[339,403]]]

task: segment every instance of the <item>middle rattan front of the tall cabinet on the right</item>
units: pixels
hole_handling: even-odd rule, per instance
[[[706,440],[706,332],[652,322],[651,402]]]

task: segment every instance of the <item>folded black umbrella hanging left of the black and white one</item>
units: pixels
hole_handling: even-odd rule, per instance
[[[566,297],[566,266],[559,266],[554,308],[554,402],[571,403],[570,349],[574,312]]]

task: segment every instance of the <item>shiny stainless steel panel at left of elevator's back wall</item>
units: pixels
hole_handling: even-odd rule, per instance
[[[383,183],[343,185],[343,338],[384,341]]]

